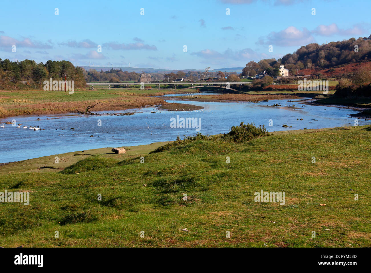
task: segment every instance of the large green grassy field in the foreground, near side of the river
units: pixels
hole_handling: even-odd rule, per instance
[[[0,191],[30,191],[30,205],[0,203],[0,246],[370,247],[370,141],[371,126],[301,130],[7,169]],[[261,189],[285,191],[286,204],[254,202]]]

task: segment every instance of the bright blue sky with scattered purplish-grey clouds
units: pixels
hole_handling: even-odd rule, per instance
[[[309,43],[368,37],[370,10],[370,0],[2,1],[0,58],[244,67]]]

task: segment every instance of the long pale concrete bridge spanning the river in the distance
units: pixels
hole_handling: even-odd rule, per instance
[[[92,88],[94,85],[108,85],[108,88],[111,88],[111,85],[125,85],[125,89],[127,89],[128,85],[141,85],[141,89],[144,90],[145,85],[158,85],[158,90],[160,90],[160,85],[174,85],[175,90],[177,90],[177,85],[191,85],[191,87],[187,87],[184,89],[192,89],[192,88],[198,88],[198,87],[218,87],[218,88],[225,88],[228,90],[237,91],[236,89],[230,88],[229,86],[231,84],[239,84],[240,90],[242,89],[243,84],[251,84],[250,82],[133,82],[133,83],[93,83],[93,84],[86,84],[90,85]],[[143,88],[142,88],[143,87]]]

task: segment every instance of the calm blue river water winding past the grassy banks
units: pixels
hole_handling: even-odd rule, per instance
[[[194,94],[192,94],[194,95]],[[198,94],[197,94],[198,95]],[[171,95],[167,96],[169,99]],[[173,100],[168,100],[173,102]],[[176,101],[205,107],[198,111],[176,112],[155,111],[154,107],[125,111],[102,111],[97,113],[124,113],[135,112],[133,116],[75,116],[75,114],[58,114],[48,116],[17,116],[8,117],[4,121],[16,120],[16,124],[40,126],[45,130],[33,131],[6,125],[0,128],[1,152],[0,162],[13,162],[59,153],[82,151],[102,147],[121,147],[150,144],[152,142],[175,140],[179,134],[195,135],[194,128],[171,128],[170,118],[179,117],[201,118],[203,134],[227,133],[232,125],[239,125],[241,121],[254,122],[263,125],[269,131],[316,129],[354,125],[354,118],[349,114],[357,111],[305,105],[287,102],[287,100],[271,100],[261,103],[207,103]],[[272,104],[293,105],[295,107],[272,107]],[[326,110],[325,110],[326,109]],[[140,113],[142,112],[142,113]],[[40,120],[37,120],[40,118]],[[47,120],[47,118],[49,118]],[[296,120],[299,118],[299,120]],[[300,120],[303,118],[303,120]],[[98,126],[98,120],[102,126]],[[269,120],[273,126],[269,127]],[[313,121],[318,120],[318,121]],[[359,125],[370,124],[371,121],[359,121]],[[292,125],[292,128],[283,128],[282,125]],[[72,130],[70,128],[75,128]],[[63,130],[62,130],[63,129]],[[93,137],[90,137],[93,135]]]

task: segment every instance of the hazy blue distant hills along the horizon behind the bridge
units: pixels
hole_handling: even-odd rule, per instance
[[[188,71],[203,71],[204,69],[160,69],[160,68],[136,68],[136,67],[105,67],[105,66],[80,66],[81,68],[84,68],[86,71],[89,69],[95,69],[96,71],[107,71],[113,69],[122,69],[122,71],[128,71],[128,72],[136,72],[136,73],[163,73],[167,74],[170,72],[176,73],[177,71],[183,71],[187,73]],[[240,74],[242,72],[243,67],[228,67],[228,68],[218,68],[213,69],[213,72],[222,71],[222,72],[237,72],[237,74]]]

